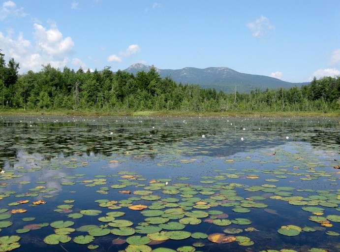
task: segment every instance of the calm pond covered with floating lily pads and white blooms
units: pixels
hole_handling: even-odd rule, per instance
[[[340,119],[0,117],[0,251],[340,251]]]

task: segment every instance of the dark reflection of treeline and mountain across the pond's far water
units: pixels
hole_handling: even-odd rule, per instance
[[[229,156],[291,141],[336,150],[337,119],[308,118],[149,118],[149,117],[1,117],[0,159],[19,152],[50,159],[59,155],[157,155],[174,148],[182,155]],[[204,138],[201,136],[205,135]],[[154,150],[157,151],[154,151]]]

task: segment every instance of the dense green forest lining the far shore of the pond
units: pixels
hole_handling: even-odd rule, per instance
[[[340,111],[340,76],[314,79],[290,89],[255,89],[250,93],[226,94],[198,85],[161,78],[155,67],[135,75],[106,66],[101,71],[77,71],[51,64],[39,72],[19,75],[19,63],[8,63],[0,51],[0,111],[197,111],[197,112],[285,112]]]

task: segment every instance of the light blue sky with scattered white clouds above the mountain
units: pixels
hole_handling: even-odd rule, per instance
[[[20,73],[144,63],[307,82],[340,75],[340,0],[0,1],[0,49]]]

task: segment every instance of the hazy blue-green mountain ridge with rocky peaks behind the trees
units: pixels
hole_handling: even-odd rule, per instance
[[[151,67],[151,65],[135,63],[124,71],[136,74],[139,71],[147,72]],[[300,87],[301,85],[309,84],[308,82],[292,83],[264,75],[240,73],[228,67],[208,67],[204,69],[185,67],[177,70],[156,69],[161,77],[164,78],[168,76],[177,83],[198,84],[205,89],[215,88],[216,91],[222,90],[227,93],[235,92],[235,87],[240,93],[249,93],[256,88],[260,90],[265,90],[267,88],[289,89],[294,86]]]

